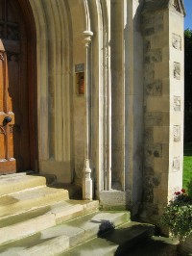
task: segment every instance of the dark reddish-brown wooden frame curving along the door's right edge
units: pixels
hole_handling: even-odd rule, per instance
[[[17,0],[26,24],[27,82],[29,99],[29,136],[31,169],[38,171],[37,146],[37,82],[36,82],[36,23],[29,0]]]

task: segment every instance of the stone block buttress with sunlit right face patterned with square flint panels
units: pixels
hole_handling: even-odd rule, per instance
[[[182,184],[183,13],[148,2],[144,37],[144,188],[142,218],[156,219]],[[159,4],[159,3],[158,3]],[[177,24],[176,24],[177,23]]]

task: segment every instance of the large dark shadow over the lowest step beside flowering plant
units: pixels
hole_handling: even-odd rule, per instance
[[[171,239],[154,237],[146,225],[114,229],[98,236],[108,243],[118,244],[114,256],[179,256],[177,243]]]

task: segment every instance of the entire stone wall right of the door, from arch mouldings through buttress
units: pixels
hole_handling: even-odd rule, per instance
[[[182,1],[30,3],[36,20],[40,172],[82,183],[87,100],[77,93],[75,68],[86,64],[89,28],[94,35],[88,147],[96,197],[134,213],[143,202],[142,217],[156,217],[181,189]]]

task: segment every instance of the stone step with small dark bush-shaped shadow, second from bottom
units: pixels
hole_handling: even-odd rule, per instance
[[[0,255],[59,255],[130,221],[128,212],[99,212],[42,230],[29,238],[0,246]],[[71,254],[73,255],[73,254]],[[89,254],[90,255],[90,254]]]

